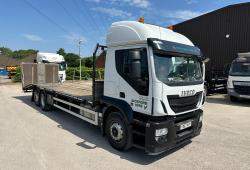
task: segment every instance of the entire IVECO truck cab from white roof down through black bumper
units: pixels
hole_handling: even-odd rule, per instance
[[[199,134],[205,97],[202,61],[199,48],[172,30],[133,21],[112,24],[104,98],[123,101],[136,122],[146,123],[149,152]]]

